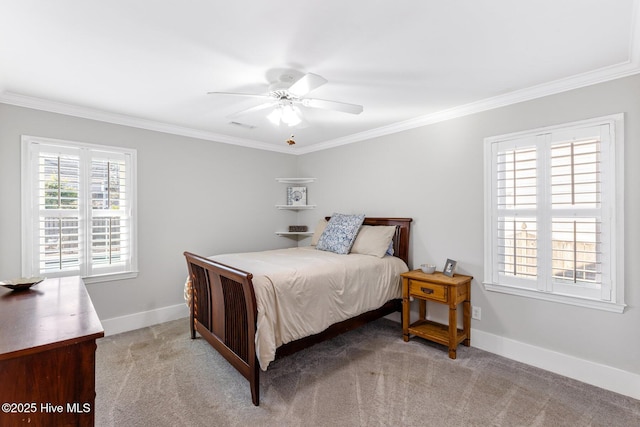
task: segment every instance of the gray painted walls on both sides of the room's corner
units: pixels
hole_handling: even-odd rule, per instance
[[[184,250],[202,254],[295,245],[287,224],[332,212],[414,219],[411,262],[458,260],[475,277],[472,328],[640,374],[640,76],[449,120],[299,157],[0,104],[0,277],[20,276],[20,136],[138,150],[138,278],[89,286],[101,319],[182,302]],[[625,113],[624,314],[486,292],[483,139]],[[276,177],[312,176],[309,203],[279,211]],[[303,240],[301,244],[307,243]],[[433,307],[435,317],[444,316]]]

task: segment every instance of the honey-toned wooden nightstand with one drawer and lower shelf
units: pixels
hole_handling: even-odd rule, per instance
[[[458,344],[471,344],[471,276],[456,274],[445,276],[413,270],[402,273],[402,337],[409,341],[409,334],[449,347],[449,357],[456,358]],[[419,319],[411,323],[410,297],[419,302]],[[426,320],[427,301],[449,306],[449,325]],[[458,329],[458,304],[462,303],[462,329]]]

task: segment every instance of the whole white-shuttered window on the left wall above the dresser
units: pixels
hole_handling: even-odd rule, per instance
[[[25,277],[135,277],[136,151],[22,137]]]

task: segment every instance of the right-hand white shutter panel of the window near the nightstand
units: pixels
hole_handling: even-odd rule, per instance
[[[550,137],[551,276],[553,288],[611,301],[615,187],[609,153],[612,124],[558,131]]]

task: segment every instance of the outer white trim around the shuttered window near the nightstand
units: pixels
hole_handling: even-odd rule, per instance
[[[493,265],[497,256],[497,230],[493,229],[495,186],[492,177],[493,144],[526,137],[533,137],[542,133],[558,132],[569,128],[610,125],[611,141],[608,154],[610,162],[607,167],[614,168],[611,174],[614,182],[610,182],[605,191],[611,191],[611,301],[596,300],[578,296],[563,295],[550,291],[523,289],[493,280]],[[521,297],[534,298],[580,307],[623,313],[624,303],[624,113],[612,114],[571,123],[547,126],[510,134],[491,136],[484,139],[484,280],[483,286],[488,291],[500,292]]]

